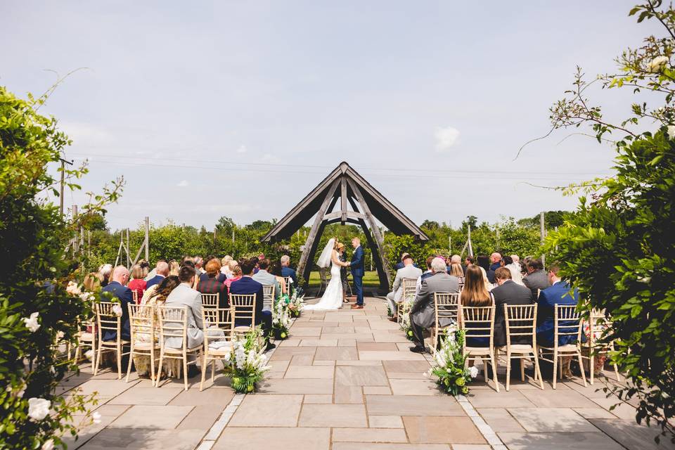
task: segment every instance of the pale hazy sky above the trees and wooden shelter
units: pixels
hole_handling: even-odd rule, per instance
[[[3,2],[0,84],[41,94],[82,68],[41,112],[89,160],[66,205],[124,176],[113,229],[281,219],[341,161],[418,224],[494,223],[577,205],[532,184],[611,173],[577,129],[514,158],[576,65],[592,79],[660,31],[634,3]],[[627,94],[591,92],[617,119]]]

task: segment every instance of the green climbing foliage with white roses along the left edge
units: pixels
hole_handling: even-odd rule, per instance
[[[73,413],[83,413],[91,397],[75,394],[64,399],[57,383],[70,368],[56,347],[71,342],[77,318],[86,307],[79,297],[65,292],[75,276],[77,262],[64,249],[79,218],[66,224],[58,208],[39,200],[57,193],[56,180],[47,170],[59,161],[70,144],[58,131],[56,120],[41,116],[37,108],[46,97],[27,100],[0,86],[0,448],[37,449],[44,442],[59,444],[60,436],[75,434]],[[68,169],[65,180],[75,180],[86,167]],[[91,195],[83,216],[102,214],[103,205],[117,198],[122,181]],[[36,323],[37,321],[37,323]],[[31,325],[31,328],[29,328]],[[29,399],[48,401],[53,414],[31,418]]]

